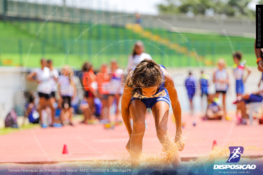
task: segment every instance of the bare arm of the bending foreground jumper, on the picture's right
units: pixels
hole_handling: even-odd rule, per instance
[[[174,88],[174,80],[166,70],[164,70],[164,78],[165,78],[165,87],[169,93],[174,119],[175,119],[175,125],[176,125],[175,142],[178,142],[178,150],[182,151],[184,149],[184,144],[181,143],[180,141],[182,135],[181,105],[178,99],[177,91]]]

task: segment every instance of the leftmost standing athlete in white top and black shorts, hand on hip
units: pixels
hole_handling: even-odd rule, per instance
[[[38,108],[38,113],[39,113],[39,120],[42,123],[42,127],[46,128],[47,126],[43,124],[42,122],[42,109],[46,109],[47,105],[49,105],[51,109],[51,115],[52,115],[52,126],[55,127],[60,127],[61,125],[55,123],[55,109],[54,106],[50,100],[51,97],[51,84],[50,84],[50,69],[47,66],[47,60],[41,59],[41,67],[40,68],[35,68],[34,71],[29,73],[27,75],[27,79],[29,81],[34,81],[37,82],[37,92],[39,95],[39,108]],[[36,78],[34,78],[36,77]]]

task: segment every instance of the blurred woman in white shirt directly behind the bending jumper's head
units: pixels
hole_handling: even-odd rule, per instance
[[[128,58],[128,70],[135,68],[139,62],[143,61],[145,58],[152,59],[149,54],[144,53],[144,44],[141,41],[138,41],[134,44],[133,52]]]

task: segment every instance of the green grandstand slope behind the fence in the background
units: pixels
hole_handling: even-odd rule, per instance
[[[75,24],[49,21],[0,21],[0,59],[1,65],[24,65],[27,54],[30,52],[27,66],[36,67],[41,57],[53,59],[55,66],[60,66],[64,57],[65,63],[80,68],[84,61],[91,61],[95,68],[101,63],[108,63],[117,59],[122,68],[127,65],[128,55],[131,53],[135,40],[145,44],[145,52],[149,53],[158,63],[177,67],[198,66],[193,48],[203,62],[203,66],[213,66],[219,57],[226,59],[228,64],[233,64],[230,43],[225,36],[201,35],[184,33],[189,42],[176,33],[161,29],[145,29],[161,38],[168,39],[171,43],[179,44],[186,52],[176,51],[159,41],[151,40],[126,29],[124,26],[110,26],[97,24],[93,28],[77,37],[92,24]],[[132,40],[124,41],[122,40]],[[235,51],[240,50],[248,64],[254,64],[254,39],[230,37]],[[148,44],[154,44],[156,47]],[[32,49],[29,47],[33,43]],[[66,52],[69,54],[66,56]],[[161,51],[165,52],[162,53]]]

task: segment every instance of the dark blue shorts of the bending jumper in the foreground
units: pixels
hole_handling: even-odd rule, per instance
[[[143,102],[146,106],[147,109],[151,109],[153,108],[153,105],[156,103],[156,102],[159,102],[159,101],[165,101],[166,103],[168,103],[169,107],[170,107],[170,97],[169,97],[169,94],[168,94],[168,91],[167,89],[165,89],[165,92],[166,92],[166,96],[161,96],[161,97],[153,97],[153,98],[134,98],[132,97],[131,98],[131,101],[132,100],[140,100],[141,102]]]

